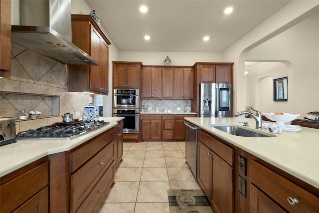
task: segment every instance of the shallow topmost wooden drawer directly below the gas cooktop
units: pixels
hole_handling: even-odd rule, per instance
[[[80,148],[71,152],[71,172],[77,170],[92,156],[99,152],[105,145],[114,139],[114,131],[109,130],[97,138],[83,144]]]

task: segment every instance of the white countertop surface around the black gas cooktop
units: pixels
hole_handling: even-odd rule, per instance
[[[0,177],[47,155],[71,150],[91,138],[111,129],[124,117],[103,117],[110,122],[94,131],[69,140],[18,140],[0,147]]]

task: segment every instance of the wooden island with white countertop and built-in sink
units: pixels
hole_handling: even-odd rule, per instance
[[[246,121],[249,127],[244,128],[264,134],[271,133],[266,129],[255,130],[255,120],[250,118],[186,117],[185,120],[198,127],[197,179],[210,197],[212,205],[215,204],[215,210],[219,211],[218,208],[222,205],[218,207],[221,201],[213,198],[214,193],[221,195],[226,187],[216,187],[214,181],[223,176],[218,179],[221,181],[219,185],[230,186],[224,198],[229,198],[233,205],[221,212],[258,212],[256,208],[265,207],[265,203],[272,203],[268,206],[269,209],[265,209],[266,212],[276,211],[277,209],[273,209],[275,206],[289,212],[318,211],[318,129],[302,127],[298,132],[282,131],[276,137],[241,137],[213,128],[209,124],[243,126],[238,121]],[[201,154],[202,151],[205,153]],[[212,160],[205,160],[206,155]],[[201,165],[203,162],[206,162],[205,167]],[[207,165],[212,167],[209,174],[206,172]],[[216,168],[222,168],[217,170],[218,175],[214,174]],[[222,183],[224,180],[228,182]]]

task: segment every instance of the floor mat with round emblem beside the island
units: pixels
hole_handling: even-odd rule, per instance
[[[201,190],[167,190],[170,213],[214,213]]]

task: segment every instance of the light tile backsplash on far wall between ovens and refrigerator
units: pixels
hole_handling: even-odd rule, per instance
[[[161,112],[163,109],[170,109],[172,112],[185,112],[186,107],[190,107],[190,100],[171,100],[171,99],[143,99],[142,105],[148,105],[152,107],[149,112],[155,112],[155,108],[158,107]],[[180,110],[177,110],[177,107]],[[144,109],[142,109],[144,112]]]

